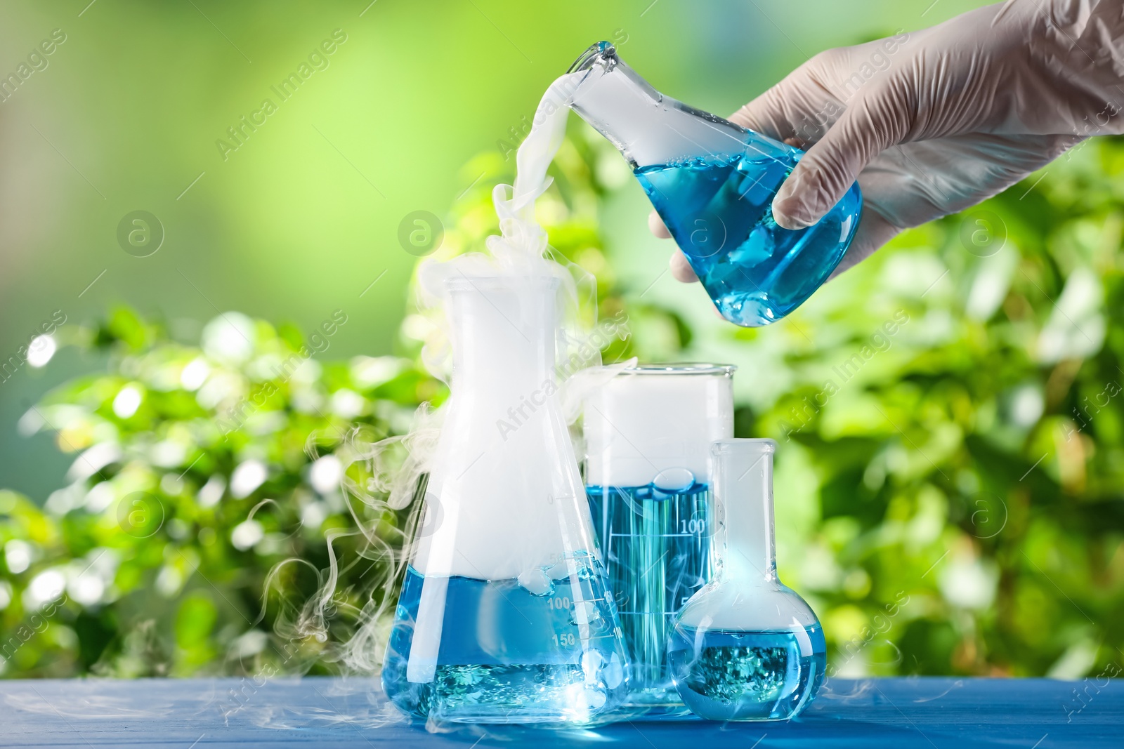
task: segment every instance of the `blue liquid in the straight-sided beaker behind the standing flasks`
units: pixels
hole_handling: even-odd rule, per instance
[[[668,670],[668,634],[674,614],[710,578],[707,486],[586,493],[632,665],[627,704],[686,712]]]

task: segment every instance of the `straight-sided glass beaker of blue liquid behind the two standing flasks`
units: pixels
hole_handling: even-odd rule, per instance
[[[668,672],[679,608],[710,578],[710,444],[734,433],[733,366],[647,364],[586,398],[586,492],[631,664],[622,710],[688,714]]]

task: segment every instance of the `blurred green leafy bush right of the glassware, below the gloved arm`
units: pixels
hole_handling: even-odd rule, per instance
[[[781,440],[781,574],[837,673],[1118,663],[1122,168],[1124,140],[1088,141],[789,321],[785,392],[743,424]]]

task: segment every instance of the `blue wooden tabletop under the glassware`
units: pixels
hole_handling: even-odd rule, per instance
[[[1080,698],[1078,697],[1080,695]],[[427,732],[370,679],[0,681],[0,747],[1124,748],[1124,681],[831,679],[788,723]]]

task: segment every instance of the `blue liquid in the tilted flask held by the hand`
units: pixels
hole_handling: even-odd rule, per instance
[[[818,223],[780,228],[772,199],[801,152],[746,137],[752,141],[744,154],[644,166],[635,174],[722,316],[763,326],[827,280],[851,243],[862,199],[852,185]]]

